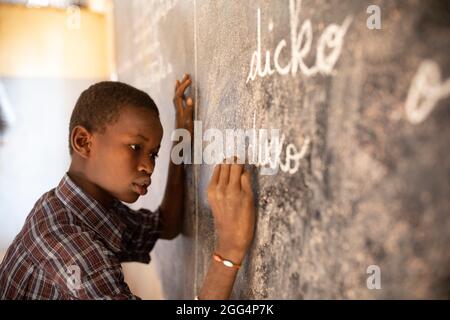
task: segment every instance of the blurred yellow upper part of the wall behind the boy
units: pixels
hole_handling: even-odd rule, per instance
[[[82,9],[74,17],[63,9],[0,4],[0,74],[108,78],[104,15]]]

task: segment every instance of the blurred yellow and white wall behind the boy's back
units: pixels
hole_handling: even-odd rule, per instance
[[[69,118],[80,93],[109,78],[105,17],[0,4],[0,85],[14,122],[0,149],[0,251],[69,167]]]

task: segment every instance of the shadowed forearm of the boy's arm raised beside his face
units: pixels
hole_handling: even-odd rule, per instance
[[[181,232],[184,212],[184,167],[169,163],[169,174],[164,199],[161,204],[164,224],[163,239],[173,239]]]

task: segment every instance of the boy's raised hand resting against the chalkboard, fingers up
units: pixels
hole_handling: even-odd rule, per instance
[[[192,81],[188,74],[184,75],[183,80],[176,82],[175,95],[173,104],[176,112],[176,129],[186,129],[191,134],[194,132],[193,110],[194,101],[192,98],[186,98],[184,95],[186,89],[191,85]]]

